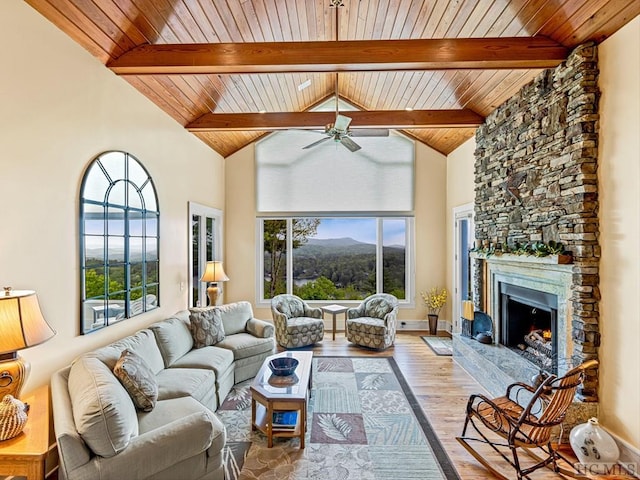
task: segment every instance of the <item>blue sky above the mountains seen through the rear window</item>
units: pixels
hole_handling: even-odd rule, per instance
[[[376,243],[375,218],[323,218],[315,238],[350,237],[364,243]],[[384,245],[405,244],[405,220],[384,221]]]

